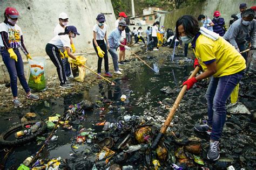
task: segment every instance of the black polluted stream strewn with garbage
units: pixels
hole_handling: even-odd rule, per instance
[[[230,166],[255,169],[256,131],[255,119],[251,117],[256,107],[252,79],[242,80],[239,97],[252,115],[227,113],[218,161],[207,160],[210,137],[193,129],[194,124],[205,123],[207,119],[204,95],[208,80],[197,83],[184,95],[165,137],[153,151],[149,149],[150,144],[169,114],[180,85],[193,70],[193,61],[177,56],[171,63],[170,55],[150,54],[142,55],[142,59],[159,73],[133,60],[127,68],[129,71],[122,78],[114,79],[114,87],[102,82],[79,94],[51,98],[31,105],[30,109],[1,113],[0,133],[19,124],[28,112],[36,113],[35,118],[26,117],[29,121],[68,113],[69,122],[60,125],[37,158],[43,159],[44,164],[61,157],[60,169],[107,169],[110,166],[110,169],[122,166],[122,169],[226,169]],[[124,101],[122,95],[126,96]],[[81,101],[85,103],[78,104]],[[90,109],[84,109],[84,105],[91,105]],[[48,129],[40,137],[47,138],[50,133]],[[16,169],[27,157],[35,156],[44,144],[43,139],[14,147],[6,159],[5,169]],[[1,147],[2,160],[3,149]]]

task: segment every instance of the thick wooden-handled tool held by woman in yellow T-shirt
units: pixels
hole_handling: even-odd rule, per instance
[[[197,66],[188,79],[191,79],[192,77],[196,76],[196,74],[199,72],[199,69],[200,69],[200,67]],[[157,137],[154,139],[154,141],[151,145],[152,149],[155,149],[157,147],[159,141],[164,136],[164,133],[166,132],[167,128],[169,127],[169,125],[172,121],[173,115],[175,114],[175,112],[179,106],[179,103],[180,103],[182,97],[184,96],[186,90],[187,90],[187,85],[184,85],[183,88],[180,90],[180,93],[179,93],[178,97],[176,98],[176,101],[174,102],[174,104],[172,106],[172,110],[170,111],[168,117],[166,118],[164,125],[161,127],[161,130],[157,134]]]

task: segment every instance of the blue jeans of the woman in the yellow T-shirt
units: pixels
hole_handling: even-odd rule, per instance
[[[219,141],[223,126],[226,121],[226,101],[230,97],[233,89],[242,76],[244,71],[222,77],[212,77],[206,91],[208,121],[212,126],[211,139]]]

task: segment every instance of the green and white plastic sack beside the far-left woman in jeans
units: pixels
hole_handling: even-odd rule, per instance
[[[45,59],[34,58],[29,60],[29,87],[34,91],[44,91],[47,88],[47,79],[45,73]]]

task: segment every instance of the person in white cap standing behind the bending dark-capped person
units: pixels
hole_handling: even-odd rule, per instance
[[[55,29],[54,29],[54,34],[53,36],[57,36],[59,33],[64,32],[65,27],[68,26],[69,23],[69,17],[65,12],[62,12],[59,14],[59,23],[56,25]],[[75,53],[76,48],[75,45],[73,44],[73,40],[72,38],[70,38],[70,44],[71,44],[71,48],[72,48],[72,53]],[[63,63],[63,67],[64,67],[64,72],[66,75],[67,79],[72,79],[73,75],[71,73],[71,68],[70,68],[70,63],[68,62],[68,54],[66,51],[61,51],[60,50],[60,56],[62,57],[62,63]]]

